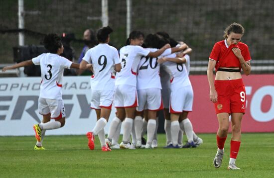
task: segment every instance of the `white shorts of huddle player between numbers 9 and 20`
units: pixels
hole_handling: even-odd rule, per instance
[[[114,94],[115,107],[137,107],[138,98],[136,87],[129,85],[115,86]]]

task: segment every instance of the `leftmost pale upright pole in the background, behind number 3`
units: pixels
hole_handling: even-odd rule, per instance
[[[18,0],[18,29],[24,29],[24,0]],[[18,33],[18,44],[23,46],[25,36],[23,32]]]

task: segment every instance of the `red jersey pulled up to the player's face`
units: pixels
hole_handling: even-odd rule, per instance
[[[241,53],[246,62],[251,60],[248,45],[245,43],[239,42],[237,45],[228,46],[226,40],[219,41],[215,43],[209,56],[209,59],[217,61],[215,66],[216,72],[220,67],[239,67],[240,70],[242,69],[239,59],[231,50],[233,47],[237,47],[241,50]]]

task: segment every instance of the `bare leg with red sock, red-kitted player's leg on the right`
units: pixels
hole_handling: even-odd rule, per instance
[[[231,114],[231,141],[230,141],[230,159],[228,169],[238,170],[235,165],[236,158],[241,145],[241,121],[243,113],[232,113]]]

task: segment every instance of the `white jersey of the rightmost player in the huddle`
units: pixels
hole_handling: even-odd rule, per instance
[[[175,58],[176,54],[171,54],[166,57]],[[187,61],[189,61],[188,55],[185,55],[184,58],[186,58]],[[185,87],[191,85],[185,64],[178,64],[168,61],[162,63],[162,67],[170,75],[171,88],[172,86]]]

